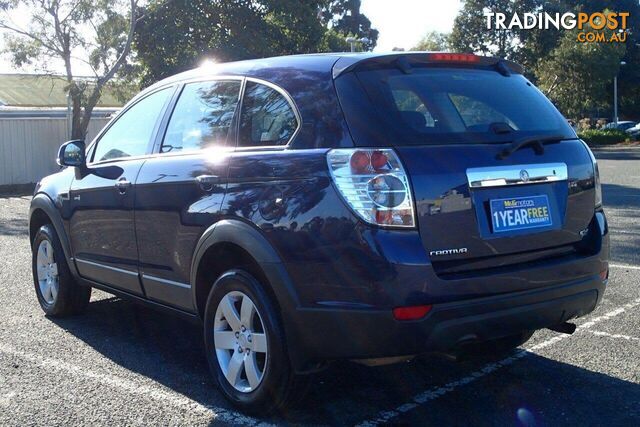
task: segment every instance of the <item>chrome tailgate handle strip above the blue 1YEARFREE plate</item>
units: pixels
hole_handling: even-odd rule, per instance
[[[467,181],[470,188],[540,184],[566,181],[567,178],[566,163],[490,166],[467,169]]]

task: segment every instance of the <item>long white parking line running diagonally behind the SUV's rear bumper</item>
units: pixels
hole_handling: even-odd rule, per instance
[[[612,310],[608,313],[605,313],[601,316],[598,317],[594,317],[593,319],[591,319],[588,322],[585,322],[583,324],[581,324],[580,326],[578,326],[578,330],[587,330],[589,328],[591,328],[593,325],[600,323],[604,320],[608,320],[611,319],[613,317],[616,317],[622,313],[624,313],[625,311],[635,308],[637,306],[640,306],[640,298],[637,298],[635,300],[633,300],[632,302],[623,305],[620,308],[617,308],[615,310]],[[456,381],[452,381],[450,383],[447,383],[443,386],[439,386],[439,387],[433,387],[429,390],[426,390],[422,393],[419,393],[417,395],[415,395],[410,402],[404,403],[398,407],[396,407],[395,409],[392,410],[388,410],[388,411],[382,411],[379,412],[374,418],[370,419],[370,420],[366,420],[363,421],[361,423],[358,424],[358,426],[376,426],[379,424],[387,424],[390,422],[390,420],[392,420],[393,418],[406,413],[408,411],[411,411],[412,409],[417,408],[420,405],[423,405],[427,402],[430,402],[432,400],[436,400],[441,396],[444,396],[445,394],[451,393],[454,390],[457,390],[459,388],[461,388],[462,386],[465,386],[467,384],[470,384],[480,378],[483,378],[489,374],[492,374],[494,372],[496,372],[498,369],[502,368],[503,366],[508,366],[511,365],[513,362],[524,358],[525,356],[529,355],[529,354],[533,354],[533,352],[537,351],[537,350],[542,350],[543,348],[547,348],[550,347],[568,337],[570,337],[571,335],[558,335],[555,336],[553,338],[550,338],[546,341],[543,341],[539,344],[536,344],[534,346],[531,346],[527,349],[524,350],[517,350],[513,355],[506,357],[502,360],[500,360],[499,362],[495,362],[495,363],[488,363],[486,365],[484,365],[482,368],[478,369],[475,372],[470,373],[469,375],[460,378]]]

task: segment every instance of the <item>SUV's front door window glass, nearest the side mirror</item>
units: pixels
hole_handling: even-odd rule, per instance
[[[93,161],[146,154],[158,116],[172,92],[173,88],[159,90],[123,112],[98,140]]]

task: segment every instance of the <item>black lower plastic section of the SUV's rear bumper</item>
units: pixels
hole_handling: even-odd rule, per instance
[[[422,320],[399,322],[390,310],[303,309],[301,350],[306,361],[367,359],[450,351],[541,329],[583,316],[602,299],[599,276],[551,288],[436,304]]]

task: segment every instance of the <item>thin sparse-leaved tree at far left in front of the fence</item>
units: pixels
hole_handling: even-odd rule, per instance
[[[32,12],[27,28],[9,18],[9,12],[20,7]],[[71,137],[83,139],[103,89],[127,71],[140,19],[137,0],[10,0],[1,1],[0,10],[0,29],[8,30],[4,53],[16,66],[32,65],[51,73],[52,60],[63,63],[73,114]],[[95,78],[77,78],[76,61],[88,64]]]

